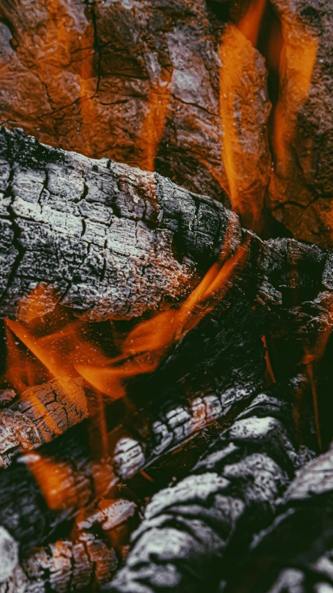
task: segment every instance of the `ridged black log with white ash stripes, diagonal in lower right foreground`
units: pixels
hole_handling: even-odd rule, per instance
[[[188,478],[153,496],[107,590],[215,590],[225,554],[244,553],[311,455],[296,453],[291,400],[298,381],[255,396]]]

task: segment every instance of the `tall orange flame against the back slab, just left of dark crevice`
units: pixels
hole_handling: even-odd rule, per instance
[[[265,118],[258,128],[257,87],[264,79],[257,69],[257,51],[239,29],[228,24],[219,47],[221,152],[232,210],[255,231],[262,228],[262,208],[271,159],[264,142]],[[244,101],[244,95],[247,100]]]

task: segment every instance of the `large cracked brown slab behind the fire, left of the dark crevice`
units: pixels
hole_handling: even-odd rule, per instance
[[[219,56],[225,22],[205,0],[45,0],[37,7],[19,0],[1,5],[0,19],[1,124],[94,158],[157,170],[226,205],[227,193],[236,205],[245,196],[262,205],[264,59],[250,46],[250,59],[240,53],[236,63],[246,76],[230,89]],[[250,44],[241,33],[238,42]],[[232,119],[241,121],[239,138],[231,139],[240,198],[221,154],[225,95]],[[238,145],[247,147],[241,159]]]

